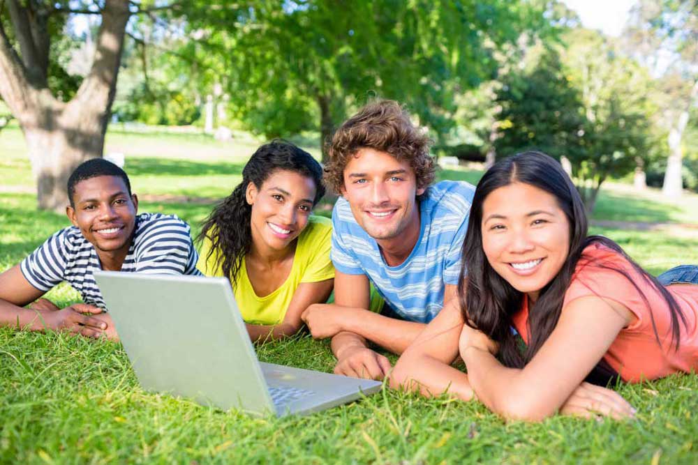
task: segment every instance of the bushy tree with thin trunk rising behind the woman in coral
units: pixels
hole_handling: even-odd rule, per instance
[[[573,29],[565,44],[533,47],[503,81],[498,154],[537,149],[565,156],[588,213],[609,176],[648,153],[650,78],[598,33]]]

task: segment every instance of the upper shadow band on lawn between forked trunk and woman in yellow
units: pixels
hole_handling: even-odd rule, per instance
[[[244,164],[235,162],[195,162],[167,158],[129,158],[129,176],[221,176],[242,174]]]

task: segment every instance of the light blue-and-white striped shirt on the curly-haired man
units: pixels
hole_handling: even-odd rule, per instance
[[[475,188],[441,181],[419,201],[419,239],[409,257],[387,266],[376,240],[356,222],[346,199],[332,212],[332,263],[348,275],[366,275],[399,317],[429,323],[443,307],[445,284],[457,284],[461,248]]]

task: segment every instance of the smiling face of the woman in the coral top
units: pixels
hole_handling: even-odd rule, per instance
[[[562,268],[570,222],[556,198],[533,185],[512,183],[482,203],[482,248],[498,275],[533,301]]]

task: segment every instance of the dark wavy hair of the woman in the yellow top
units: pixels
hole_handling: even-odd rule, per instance
[[[242,182],[235,186],[228,197],[216,205],[211,215],[203,222],[197,241],[208,238],[211,248],[207,261],[214,253],[218,254],[215,268],[223,271],[223,276],[235,280],[242,259],[252,247],[250,218],[252,206],[247,203],[246,190],[249,183],[257,189],[276,171],[293,171],[315,183],[313,206],[325,195],[322,184],[322,167],[313,156],[302,148],[281,139],[275,139],[260,146],[242,169]]]

